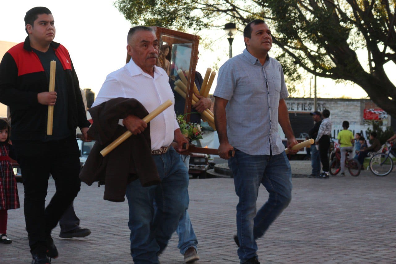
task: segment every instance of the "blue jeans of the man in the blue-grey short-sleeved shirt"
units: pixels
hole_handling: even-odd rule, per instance
[[[278,155],[248,155],[236,150],[228,160],[234,174],[236,226],[240,262],[257,257],[256,239],[262,237],[276,217],[291,201],[291,168],[286,153]],[[268,201],[257,212],[256,201],[260,184],[269,193]],[[256,213],[257,212],[257,213]]]

